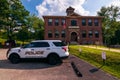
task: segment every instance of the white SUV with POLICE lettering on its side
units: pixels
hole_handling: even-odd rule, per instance
[[[7,58],[13,64],[26,58],[47,58],[49,64],[55,65],[68,56],[68,46],[60,40],[36,40],[7,52]]]

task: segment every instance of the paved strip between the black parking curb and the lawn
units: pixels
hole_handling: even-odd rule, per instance
[[[120,80],[108,73],[103,72],[102,70],[96,70],[94,66],[91,66],[89,63],[71,55],[69,57],[71,62],[74,62],[82,77],[79,77],[79,80]]]

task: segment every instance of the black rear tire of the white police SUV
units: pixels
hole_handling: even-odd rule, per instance
[[[57,54],[50,54],[47,60],[50,65],[56,65],[61,61],[60,57]]]

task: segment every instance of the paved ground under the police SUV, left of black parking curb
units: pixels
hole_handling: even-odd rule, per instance
[[[55,66],[39,61],[11,64],[6,59],[6,50],[0,49],[0,80],[78,80],[78,77],[69,61]]]

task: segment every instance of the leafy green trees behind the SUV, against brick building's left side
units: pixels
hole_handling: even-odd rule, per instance
[[[30,15],[27,18],[26,26],[21,26],[21,29],[16,33],[16,39],[20,41],[40,40],[44,38],[43,20],[35,15]]]

